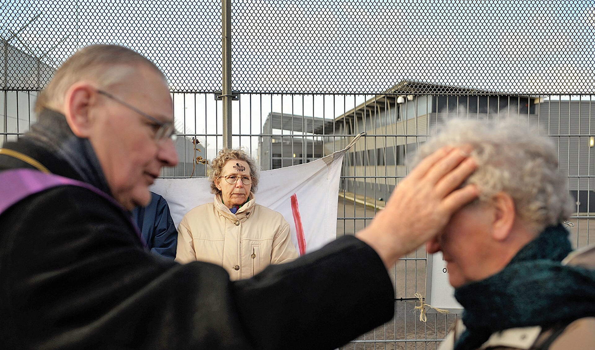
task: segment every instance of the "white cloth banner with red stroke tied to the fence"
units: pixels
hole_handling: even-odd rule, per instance
[[[337,236],[339,178],[346,150],[314,162],[261,172],[256,203],[285,217],[300,255]],[[208,178],[157,179],[151,191],[167,200],[176,227],[190,209],[212,202],[214,196]]]

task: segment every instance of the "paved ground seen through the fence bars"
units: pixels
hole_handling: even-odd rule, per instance
[[[354,203],[354,198],[360,203]],[[373,203],[365,206],[361,203]],[[377,198],[363,198],[345,194],[339,198],[337,207],[337,237],[353,235],[364,228],[364,223],[374,216],[376,208],[383,208],[384,201]],[[584,215],[583,215],[584,216]],[[369,218],[369,219],[365,219]],[[594,217],[595,219],[595,217]],[[587,217],[569,220],[568,229],[571,232],[571,241],[574,247],[584,247],[595,244],[595,220],[593,223]],[[419,321],[419,311],[415,311],[415,301],[399,301],[399,298],[415,298],[415,293],[425,295],[425,251],[420,248],[415,253],[406,256],[404,261],[399,261],[396,268],[390,272],[396,286],[397,301],[395,301],[394,319],[372,332],[359,337],[354,342],[348,343],[340,349],[383,349],[383,350],[417,350],[436,349],[443,339],[456,315],[428,314],[427,322]],[[340,295],[337,296],[340,298]]]

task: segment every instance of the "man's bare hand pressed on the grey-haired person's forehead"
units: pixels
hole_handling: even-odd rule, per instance
[[[384,210],[358,232],[387,269],[438,234],[453,213],[477,198],[475,185],[458,188],[475,171],[471,149],[445,146],[425,157],[399,182]]]

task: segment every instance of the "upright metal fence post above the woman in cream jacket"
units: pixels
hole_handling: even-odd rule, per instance
[[[231,148],[231,0],[221,0],[223,148]]]

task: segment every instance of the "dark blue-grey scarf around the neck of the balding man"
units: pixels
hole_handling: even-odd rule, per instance
[[[23,140],[52,150],[74,169],[82,181],[111,196],[109,185],[90,141],[74,135],[62,113],[43,109],[39,113],[39,122],[31,126]]]

